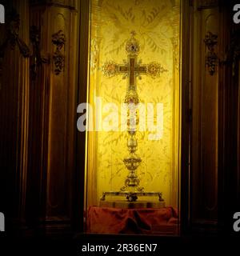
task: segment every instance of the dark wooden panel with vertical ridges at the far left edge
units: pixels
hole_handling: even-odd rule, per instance
[[[29,4],[27,0],[9,1],[6,3],[6,13],[11,14],[2,26],[1,42],[7,38],[10,22],[16,21],[14,27],[18,38],[29,45]],[[15,23],[16,24],[16,23]],[[27,141],[29,112],[29,59],[22,56],[18,44],[2,48],[0,59],[0,170],[2,170],[1,206],[6,215],[6,229],[10,223],[24,225],[27,175]],[[27,47],[26,47],[27,49]],[[26,54],[27,55],[27,54]]]

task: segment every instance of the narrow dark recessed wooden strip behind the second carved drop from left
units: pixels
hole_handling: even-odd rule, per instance
[[[27,176],[26,218],[30,226],[37,225],[46,215],[46,170],[48,155],[48,126],[50,101],[50,53],[47,52],[47,38],[43,34],[43,14],[46,6],[30,6],[30,27],[38,30],[39,50],[47,63],[36,66],[36,77],[30,73],[30,125],[29,163]],[[30,33],[30,30],[29,30]],[[31,34],[31,33],[30,33]],[[31,37],[33,34],[31,34]],[[31,43],[32,49],[33,45]],[[33,53],[34,54],[34,53]],[[30,66],[34,56],[30,57]]]

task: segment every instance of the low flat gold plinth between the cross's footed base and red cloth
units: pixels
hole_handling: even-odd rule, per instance
[[[110,207],[110,208],[122,208],[122,209],[139,209],[139,208],[163,208],[165,207],[164,201],[136,201],[128,202],[126,200],[119,201],[100,201],[100,207]]]

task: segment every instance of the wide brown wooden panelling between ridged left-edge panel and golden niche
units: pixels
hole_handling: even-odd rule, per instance
[[[30,222],[43,224],[50,232],[59,227],[69,229],[72,216],[78,91],[77,6],[75,1],[34,1],[30,6],[30,26],[40,31],[40,50],[47,62],[37,67],[37,77],[31,80],[30,147],[35,154],[30,155],[27,209]],[[63,36],[65,42],[60,46]],[[58,67],[54,54],[64,58]]]

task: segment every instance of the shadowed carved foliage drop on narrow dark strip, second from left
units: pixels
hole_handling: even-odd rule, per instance
[[[38,66],[42,66],[43,63],[48,63],[48,58],[42,56],[40,50],[40,31],[37,26],[30,27],[30,42],[33,46],[33,54],[30,58],[30,75],[31,79],[35,80],[37,76]]]

